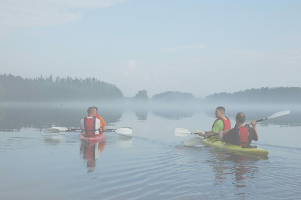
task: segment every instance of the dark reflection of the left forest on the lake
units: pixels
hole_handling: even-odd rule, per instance
[[[21,128],[42,129],[56,127],[78,128],[79,121],[86,116],[87,106],[0,106],[0,131],[20,131]],[[115,125],[123,109],[99,108],[107,126]],[[12,120],[13,119],[13,120]]]

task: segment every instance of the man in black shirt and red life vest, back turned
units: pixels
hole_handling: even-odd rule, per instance
[[[230,143],[234,145],[250,145],[252,140],[258,140],[258,131],[256,127],[256,121],[251,121],[252,127],[249,125],[245,125],[244,122],[246,120],[246,116],[242,112],[238,112],[235,121],[236,125],[234,128],[230,129],[227,134],[223,136],[222,131],[219,131],[219,139],[221,142]],[[244,133],[247,130],[246,133]]]

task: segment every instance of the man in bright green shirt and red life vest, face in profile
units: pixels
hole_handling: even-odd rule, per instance
[[[197,134],[203,137],[207,137],[213,134],[217,134],[219,131],[231,129],[231,121],[228,117],[225,116],[224,107],[217,107],[214,114],[217,119],[213,123],[211,131],[205,131],[205,133],[198,132]],[[224,134],[226,134],[226,132]],[[215,137],[219,138],[219,135],[216,135]]]

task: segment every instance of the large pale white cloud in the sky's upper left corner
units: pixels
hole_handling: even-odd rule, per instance
[[[75,9],[104,8],[126,0],[2,0],[0,28],[57,26],[79,20]]]

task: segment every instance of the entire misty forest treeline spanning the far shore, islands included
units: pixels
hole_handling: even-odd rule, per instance
[[[120,89],[96,78],[67,78],[52,76],[43,78],[22,78],[11,74],[0,75],[0,100],[6,102],[48,100],[117,100],[123,99]],[[130,98],[131,99],[131,98]],[[132,98],[137,102],[148,102],[146,90],[139,90]],[[152,102],[189,103],[301,103],[300,87],[252,88],[234,93],[214,93],[204,99],[191,93],[166,91],[151,97]]]

